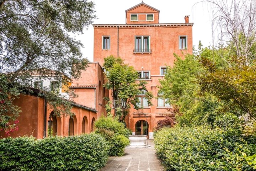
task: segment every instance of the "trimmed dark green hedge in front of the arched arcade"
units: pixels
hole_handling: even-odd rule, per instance
[[[100,135],[0,139],[2,171],[97,171],[108,160],[108,145]]]

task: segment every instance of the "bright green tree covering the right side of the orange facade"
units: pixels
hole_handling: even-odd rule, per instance
[[[185,59],[176,56],[174,67],[168,67],[165,78],[160,81],[164,97],[179,109],[178,123],[181,126],[213,124],[221,103],[210,93],[201,93],[198,76],[203,72],[194,55]]]

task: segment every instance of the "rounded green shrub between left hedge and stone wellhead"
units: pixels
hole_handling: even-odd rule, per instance
[[[124,154],[124,148],[129,145],[128,137],[132,132],[125,128],[123,123],[118,122],[117,118],[102,116],[95,122],[95,128],[95,133],[101,134],[110,147],[108,155],[122,156]]]

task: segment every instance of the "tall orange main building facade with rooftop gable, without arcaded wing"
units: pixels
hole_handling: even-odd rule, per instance
[[[166,66],[174,65],[174,53],[179,56],[192,54],[192,26],[189,16],[184,23],[159,23],[159,10],[144,2],[126,10],[126,24],[94,24],[94,61],[103,65],[109,55],[121,57],[133,66],[138,80],[145,80],[147,91],[156,97],[153,106],[143,98],[139,111],[130,109],[124,119],[133,134],[148,134],[153,138],[157,122],[169,113],[171,105],[165,103],[158,91],[159,80],[164,78]],[[146,121],[148,126],[146,126]],[[148,133],[145,131],[148,127]]]

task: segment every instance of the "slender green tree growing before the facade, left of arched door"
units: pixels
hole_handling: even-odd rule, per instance
[[[146,90],[145,81],[137,81],[138,72],[132,67],[123,62],[121,58],[115,58],[113,55],[104,58],[103,67],[106,69],[106,84],[104,85],[108,90],[111,90],[111,97],[113,102],[107,103],[107,112],[111,112],[113,104],[114,114],[121,118],[125,117],[131,105],[135,109],[139,109],[139,98],[137,95]],[[152,105],[151,92],[145,92],[145,98],[148,105]],[[109,100],[109,99],[108,99]]]

